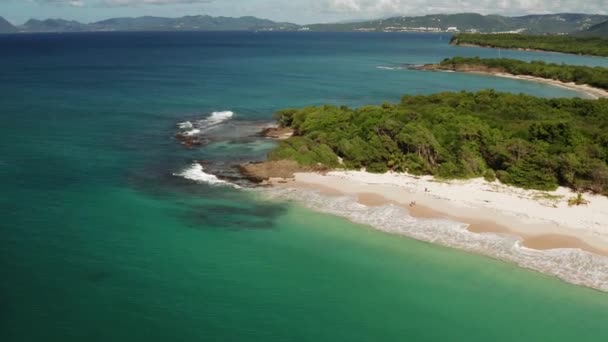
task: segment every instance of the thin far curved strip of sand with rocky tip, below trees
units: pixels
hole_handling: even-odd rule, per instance
[[[608,97],[608,90],[592,87],[588,84],[576,84],[574,82],[567,83],[567,82],[562,82],[562,81],[554,80],[554,79],[528,76],[528,75],[515,75],[515,74],[502,72],[499,70],[492,70],[492,69],[486,70],[486,69],[487,68],[470,67],[470,68],[459,68],[459,69],[454,70],[451,68],[443,68],[443,67],[441,67],[439,65],[435,65],[435,64],[424,65],[424,66],[417,68],[417,70],[424,70],[424,71],[461,72],[461,73],[469,73],[469,74],[477,74],[477,75],[510,78],[510,79],[521,80],[521,81],[544,83],[544,84],[549,84],[549,85],[552,85],[555,87],[560,87],[560,88],[574,90],[574,91],[583,93],[583,94],[587,95],[588,97],[590,97],[591,99],[599,99],[599,98]]]

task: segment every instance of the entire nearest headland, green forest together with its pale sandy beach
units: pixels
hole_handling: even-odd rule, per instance
[[[492,90],[287,109],[294,135],[243,170],[317,210],[608,291],[606,112]],[[428,228],[443,220],[464,228]]]

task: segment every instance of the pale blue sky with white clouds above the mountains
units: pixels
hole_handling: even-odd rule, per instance
[[[608,14],[608,0],[0,0],[0,16],[92,22],[112,17],[253,15],[298,24],[393,15],[478,12],[522,15],[555,12]]]

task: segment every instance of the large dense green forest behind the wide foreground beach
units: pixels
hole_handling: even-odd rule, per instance
[[[398,104],[358,109],[288,109],[276,117],[296,135],[272,151],[271,160],[441,178],[496,177],[524,188],[565,185],[608,195],[608,99],[486,90],[404,96]]]

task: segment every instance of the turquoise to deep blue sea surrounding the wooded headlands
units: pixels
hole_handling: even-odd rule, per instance
[[[580,95],[403,69],[497,55],[448,41],[0,36],[0,340],[606,340],[606,293],[268,201],[212,175],[263,158],[273,143],[255,133],[285,107],[484,88]],[[206,145],[180,146],[186,122],[205,130]]]

